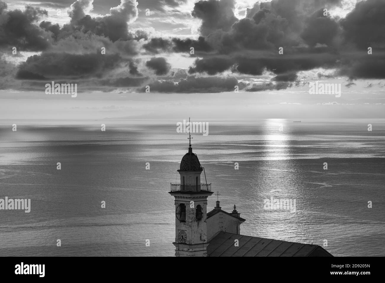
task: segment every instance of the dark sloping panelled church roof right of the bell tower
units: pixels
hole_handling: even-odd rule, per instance
[[[234,240],[239,246],[234,246]],[[219,232],[209,241],[208,256],[332,256],[318,245]]]

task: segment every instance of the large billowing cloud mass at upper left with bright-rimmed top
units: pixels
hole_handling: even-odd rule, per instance
[[[93,18],[87,15],[92,10],[92,1],[76,1],[69,11],[70,23],[60,28],[48,21],[38,23],[43,15],[47,15],[44,10],[26,7],[23,12],[7,12],[4,10],[6,4],[2,4],[0,38],[3,37],[3,31],[7,31],[4,36],[9,34],[9,30],[12,31],[7,25],[20,25],[23,28],[19,28],[18,32],[25,30],[24,33],[31,40],[28,40],[28,36],[25,37],[27,40],[22,38],[23,34],[15,34],[14,37],[8,35],[7,44],[12,44],[12,39],[17,38],[23,40],[23,47],[28,45],[31,50],[43,51],[21,63],[13,72],[14,78],[25,80],[24,85],[32,88],[35,87],[33,81],[70,79],[89,85],[89,79],[95,78],[99,81],[91,85],[115,83],[115,87],[140,86],[143,80],[132,78],[142,76],[132,57],[139,53],[141,43],[133,38],[127,24],[137,17],[136,5],[134,0],[122,0],[119,6],[110,9],[109,14]],[[1,44],[3,41],[0,41]],[[18,44],[17,48],[20,46]],[[105,54],[101,52],[102,47],[105,48]],[[166,68],[168,66],[165,65]],[[122,72],[124,68],[126,70]],[[163,72],[160,65],[157,68],[157,73]]]

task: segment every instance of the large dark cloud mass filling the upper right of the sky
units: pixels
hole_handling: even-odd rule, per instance
[[[256,3],[245,18],[234,20],[233,1],[199,1],[192,15],[202,19],[201,36],[216,52],[199,54],[189,73],[262,75],[267,70],[276,74],[273,80],[293,82],[299,71],[336,68],[350,78],[384,78],[385,0],[358,2],[342,20],[324,15],[324,8],[335,6],[341,1],[272,0]],[[219,15],[222,22],[215,21]],[[370,45],[377,48],[372,58],[364,56]]]

